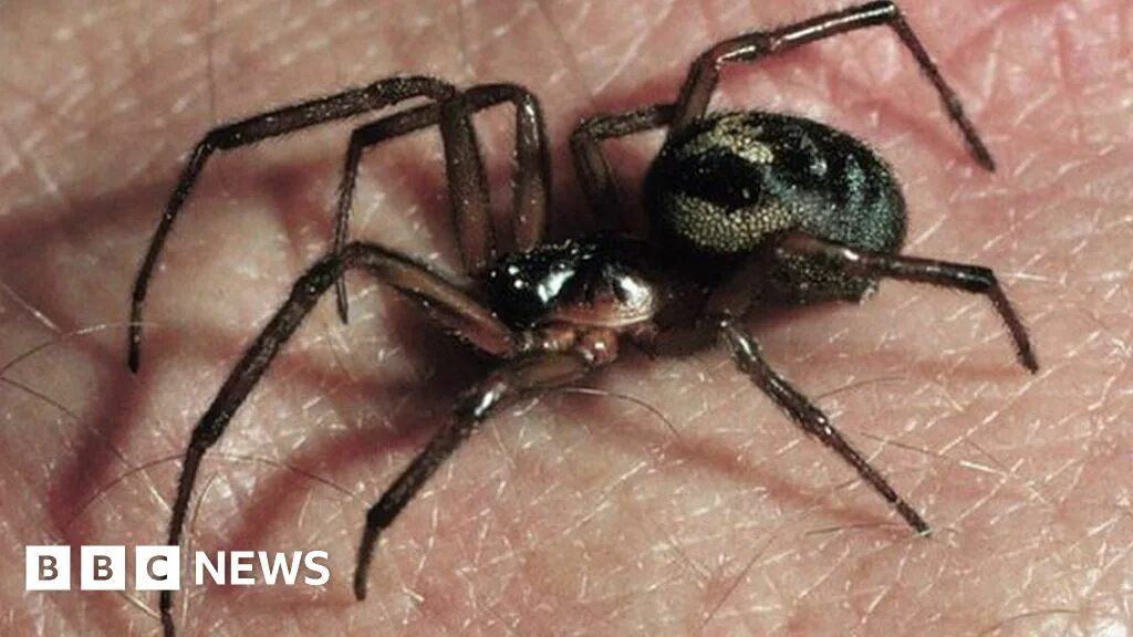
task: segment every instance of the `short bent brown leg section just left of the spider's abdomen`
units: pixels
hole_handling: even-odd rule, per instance
[[[570,136],[574,172],[590,210],[602,219],[616,219],[621,211],[617,185],[606,154],[602,152],[602,143],[667,126],[672,117],[672,104],[654,104],[628,113],[591,117],[574,128]]]

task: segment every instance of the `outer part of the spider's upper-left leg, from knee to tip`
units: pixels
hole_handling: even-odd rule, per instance
[[[157,229],[154,231],[153,238],[150,239],[150,248],[146,250],[142,267],[134,280],[127,338],[127,364],[130,370],[137,372],[140,364],[142,309],[145,305],[146,291],[153,275],[153,269],[157,263],[157,256],[165,245],[173,221],[214,151],[247,146],[303,128],[383,109],[411,97],[424,96],[444,100],[452,95],[453,91],[450,84],[432,77],[394,77],[334,95],[283,107],[210,130],[193,148],[189,160],[181,170],[181,176],[165,204],[165,211],[157,223]]]

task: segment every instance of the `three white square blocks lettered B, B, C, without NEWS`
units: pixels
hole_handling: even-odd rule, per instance
[[[125,591],[126,546],[80,546],[80,591]],[[70,591],[70,546],[27,546],[25,552],[27,591]],[[177,591],[181,584],[181,554],[177,546],[135,546],[134,588],[137,591]]]

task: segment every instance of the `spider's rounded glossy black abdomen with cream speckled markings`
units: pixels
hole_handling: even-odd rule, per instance
[[[646,175],[645,205],[674,252],[742,260],[787,230],[894,253],[905,204],[889,167],[863,143],[808,119],[766,112],[705,117],[666,142]],[[857,299],[875,281],[801,257],[772,282],[799,301]]]

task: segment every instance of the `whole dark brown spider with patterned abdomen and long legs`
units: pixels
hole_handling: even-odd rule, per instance
[[[583,120],[571,136],[574,167],[589,205],[608,214],[619,206],[603,142],[667,129],[642,187],[654,226],[644,237],[599,233],[544,241],[551,180],[543,114],[536,96],[516,84],[458,90],[433,77],[394,77],[207,133],[189,155],[137,274],[128,336],[128,364],[135,372],[153,267],[213,152],[415,97],[427,100],[353,129],[339,188],[333,248],[295,282],[193,430],[168,543],[180,544],[204,455],[332,286],[339,314],[347,321],[343,273],[352,269],[391,286],[449,332],[499,362],[457,399],[451,419],[368,510],[353,576],[358,600],[366,597],[367,571],[381,533],[480,423],[518,397],[574,383],[610,365],[623,345],[658,354],[702,348],[714,340],[723,343],[738,368],[806,433],[849,462],[918,534],[929,534],[920,513],[818,407],[768,365],[743,318],[772,303],[861,300],[881,278],[930,283],[985,295],[1006,324],[1019,362],[1033,373],[1038,362],[1022,321],[991,270],[898,254],[905,231],[901,188],[886,162],[863,143],[798,117],[756,110],[707,112],[724,65],[756,62],[881,25],[891,27],[912,53],[974,160],[995,170],[955,92],[889,1],[724,40],[692,62],[674,102]],[[501,230],[489,213],[471,116],[504,103],[514,108],[517,134],[511,228]],[[346,241],[363,152],[432,126],[441,130],[452,221],[463,267],[474,281],[470,287],[381,245]],[[504,239],[497,239],[497,231]],[[162,592],[160,605],[164,631],[171,636],[171,592]]]

